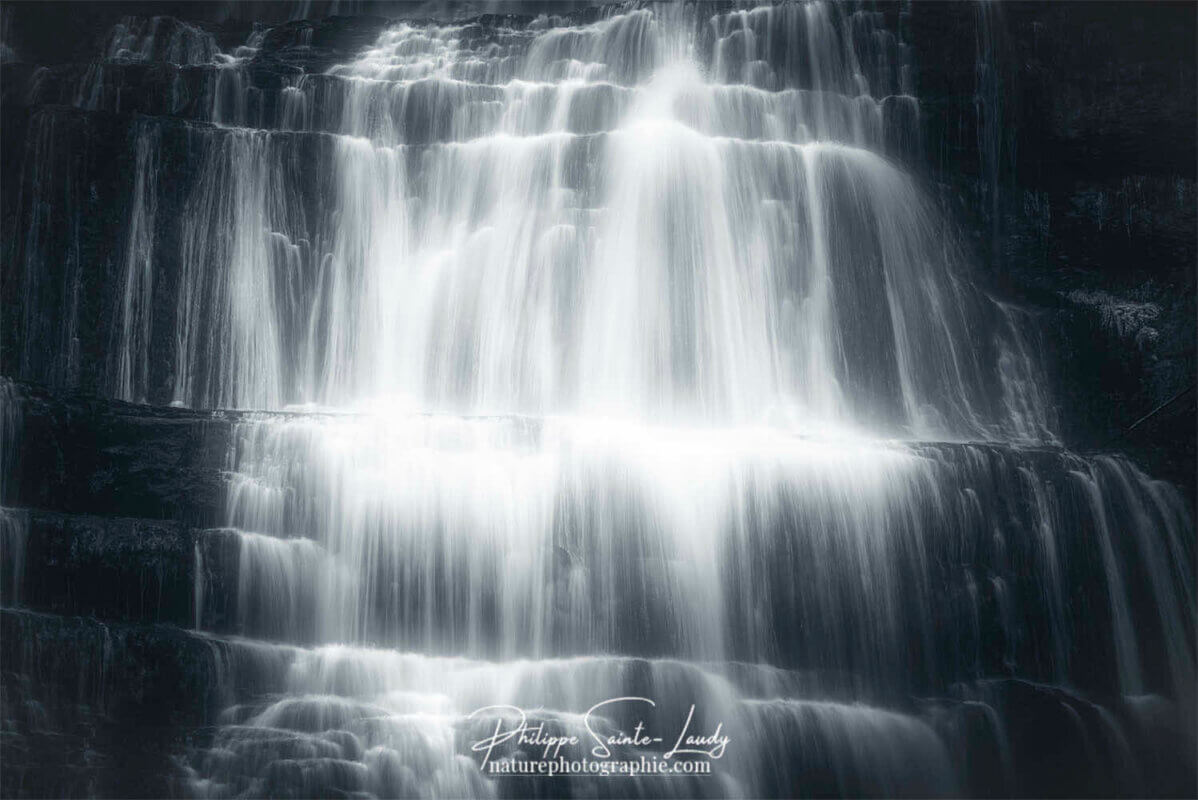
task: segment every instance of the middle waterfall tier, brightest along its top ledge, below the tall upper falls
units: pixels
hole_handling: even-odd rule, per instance
[[[222,630],[734,657],[871,691],[1193,675],[1187,511],[1117,457],[420,414],[252,416],[235,441],[199,553]]]

